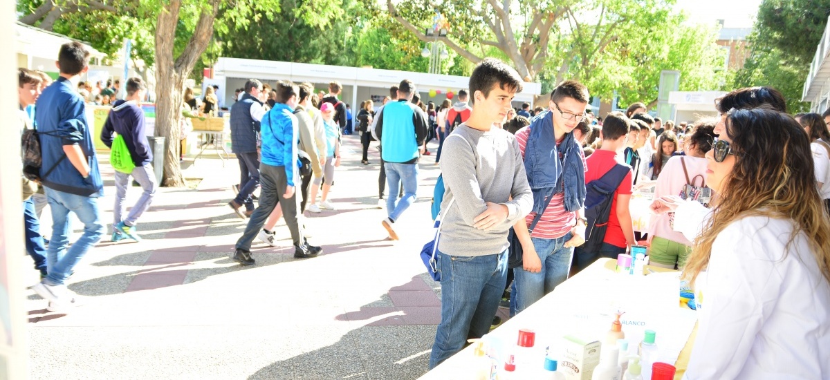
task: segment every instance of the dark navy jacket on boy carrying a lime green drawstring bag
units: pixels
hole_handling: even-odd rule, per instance
[[[153,151],[147,141],[147,127],[144,125],[144,111],[139,105],[125,100],[115,100],[114,107],[101,129],[101,141],[112,148],[113,132],[124,137],[129,157],[135,166],[153,162]]]

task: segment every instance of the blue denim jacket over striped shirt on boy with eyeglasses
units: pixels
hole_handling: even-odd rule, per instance
[[[525,173],[533,190],[533,212],[544,212],[544,200],[563,192],[564,207],[575,212],[585,202],[585,167],[579,150],[582,147],[574,134],[565,134],[556,146],[553,113],[544,111],[530,123],[530,136],[525,148]],[[562,150],[563,158],[559,158]]]

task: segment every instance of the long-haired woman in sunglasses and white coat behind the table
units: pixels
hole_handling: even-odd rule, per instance
[[[683,272],[706,270],[685,378],[830,378],[830,218],[807,135],[734,110],[706,158],[719,197]]]

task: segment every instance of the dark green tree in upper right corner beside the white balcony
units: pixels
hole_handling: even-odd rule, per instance
[[[769,85],[784,94],[790,113],[809,110],[801,96],[828,12],[830,0],[761,2],[747,38],[752,53],[744,68],[732,73],[732,85]]]

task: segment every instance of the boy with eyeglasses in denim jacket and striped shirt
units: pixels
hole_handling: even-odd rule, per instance
[[[585,156],[573,132],[586,117],[589,99],[585,85],[567,80],[550,94],[549,110],[516,132],[534,204],[533,211],[513,227],[524,255],[522,266],[513,269],[510,315],[567,280],[574,246],[585,241],[585,222],[580,217]],[[533,231],[528,231],[537,216]]]

